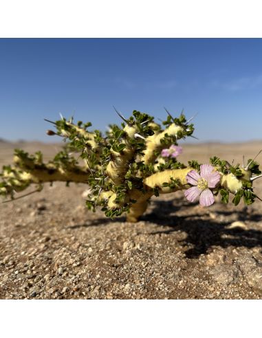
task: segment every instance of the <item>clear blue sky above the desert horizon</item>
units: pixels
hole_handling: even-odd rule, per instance
[[[182,109],[200,142],[262,139],[262,39],[0,39],[0,138],[47,137],[74,114],[105,131],[135,110]],[[193,139],[190,139],[192,142]]]

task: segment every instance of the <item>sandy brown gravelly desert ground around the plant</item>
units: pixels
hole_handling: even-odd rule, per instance
[[[262,142],[183,147],[184,163],[242,163]],[[0,142],[1,166],[14,148],[50,159],[60,145]],[[262,198],[262,179],[254,187]],[[201,207],[175,192],[153,197],[133,224],[89,212],[86,188],[46,184],[0,203],[1,299],[262,299],[262,202]]]

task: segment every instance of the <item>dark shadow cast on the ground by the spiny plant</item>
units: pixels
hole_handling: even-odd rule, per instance
[[[243,229],[242,227],[229,227],[232,221],[226,218],[232,214],[229,210],[215,211],[217,218],[201,219],[199,214],[187,214],[186,216],[175,216],[174,212],[187,207],[186,202],[174,207],[174,201],[154,201],[151,214],[142,216],[143,221],[150,221],[168,229],[151,232],[154,234],[171,234],[173,232],[186,232],[186,239],[182,245],[190,247],[185,251],[187,258],[198,258],[206,254],[212,246],[219,247],[261,247],[262,231],[258,229]],[[175,200],[179,203],[179,200]],[[238,211],[239,221],[262,221],[262,215],[253,212],[249,214],[247,207]],[[219,220],[219,218],[223,221]]]

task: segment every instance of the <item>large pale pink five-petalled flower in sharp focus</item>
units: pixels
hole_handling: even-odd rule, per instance
[[[208,207],[215,202],[213,193],[208,188],[215,188],[220,181],[220,174],[214,171],[214,167],[210,164],[202,164],[200,166],[200,174],[195,170],[191,170],[186,175],[186,181],[195,185],[185,191],[186,199],[195,202],[199,197],[200,205]]]

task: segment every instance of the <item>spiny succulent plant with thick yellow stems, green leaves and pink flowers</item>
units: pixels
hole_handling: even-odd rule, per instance
[[[151,196],[177,190],[185,190],[188,201],[199,199],[205,206],[214,203],[217,194],[222,203],[228,203],[229,194],[233,194],[235,205],[242,198],[247,205],[258,198],[252,182],[261,177],[261,171],[254,159],[242,167],[218,157],[210,158],[210,164],[177,161],[182,153],[177,142],[193,137],[194,131],[191,119],[186,120],[183,113],[173,118],[167,111],[162,126],[147,113],[133,111],[128,119],[117,113],[122,124],[109,125],[105,135],[89,131],[90,122],[74,124],[73,118],[62,116],[51,122],[56,131],[47,134],[63,137],[63,151],[43,163],[41,152],[28,155],[15,150],[14,164],[3,166],[0,174],[0,195],[16,199],[17,192],[32,184],[36,185],[32,192],[40,191],[45,182],[86,183],[90,188],[86,201],[90,210],[102,207],[105,216],[111,218],[124,213],[129,222],[138,221]]]

